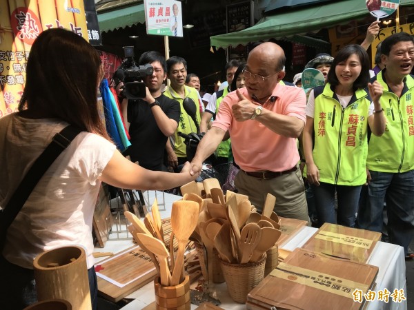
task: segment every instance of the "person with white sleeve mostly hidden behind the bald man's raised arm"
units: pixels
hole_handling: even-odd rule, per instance
[[[232,59],[226,63],[226,83],[227,87],[215,92],[210,101],[208,101],[208,105],[206,107],[206,111],[204,112],[203,116],[201,117],[200,123],[200,132],[207,132],[208,124],[210,121],[216,118],[216,112],[219,110],[219,105],[224,97],[231,91],[231,83],[235,76],[235,72],[239,67],[239,61],[237,59]],[[224,83],[221,83],[221,85]],[[220,86],[221,86],[220,85]],[[226,141],[222,141],[216,149],[215,155],[216,160],[213,165],[219,165],[222,163],[228,163],[228,156],[230,154],[230,139]]]

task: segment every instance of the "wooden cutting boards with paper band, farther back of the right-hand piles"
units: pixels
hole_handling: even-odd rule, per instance
[[[326,256],[367,262],[381,233],[325,223],[302,248]]]

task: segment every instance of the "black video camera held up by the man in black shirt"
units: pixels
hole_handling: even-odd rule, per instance
[[[122,61],[113,79],[115,84],[124,82],[124,90],[121,96],[128,99],[137,100],[146,97],[146,85],[142,78],[154,72],[152,65],[137,65],[134,61],[134,47],[124,46],[125,59]]]

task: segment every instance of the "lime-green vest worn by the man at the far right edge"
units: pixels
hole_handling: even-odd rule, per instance
[[[380,103],[386,127],[382,136],[371,135],[366,167],[378,172],[408,172],[414,169],[414,76],[406,76],[398,98],[384,81],[383,72],[375,79],[384,87]]]

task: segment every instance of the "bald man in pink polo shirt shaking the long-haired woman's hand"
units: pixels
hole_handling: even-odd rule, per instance
[[[241,170],[235,178],[239,193],[246,194],[262,211],[267,193],[276,196],[279,216],[309,221],[296,138],[305,125],[306,95],[299,87],[279,83],[286,61],[279,45],[266,42],[248,55],[246,87],[230,92],[216,119],[201,139],[192,173],[212,154],[226,131],[233,156]]]

